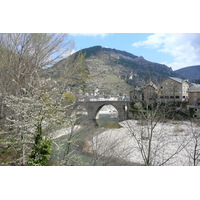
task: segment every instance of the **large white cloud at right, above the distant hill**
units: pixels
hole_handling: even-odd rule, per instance
[[[132,46],[153,48],[173,56],[173,62],[165,64],[174,70],[200,64],[200,33],[155,33]]]

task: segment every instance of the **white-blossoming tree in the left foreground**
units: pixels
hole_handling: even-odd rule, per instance
[[[7,113],[6,126],[9,128],[10,133],[13,133],[9,135],[10,140],[12,139],[14,143],[22,145],[23,165],[26,164],[29,144],[35,143],[34,152],[44,151],[50,145],[52,130],[60,125],[63,127],[69,126],[71,120],[73,120],[69,109],[70,105],[63,105],[62,95],[57,94],[59,94],[58,91],[50,93],[49,91],[42,92],[42,90],[35,89],[34,95],[27,95],[26,97],[10,95],[5,97],[4,103],[10,112]],[[72,95],[72,97],[74,96]],[[40,128],[43,131],[39,132]],[[40,137],[42,141],[39,140]],[[35,154],[32,152],[32,159]],[[45,156],[42,155],[44,160],[46,159]],[[40,156],[35,157],[36,164],[42,164],[42,158]],[[33,164],[33,160],[31,163]]]

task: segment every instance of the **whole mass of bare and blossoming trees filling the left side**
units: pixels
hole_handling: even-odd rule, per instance
[[[50,145],[52,131],[68,124],[71,110],[67,113],[62,104],[58,83],[41,78],[41,72],[72,47],[68,34],[0,34],[0,144],[7,155],[16,155],[12,158],[15,165],[27,164],[38,123],[43,130],[41,151]]]

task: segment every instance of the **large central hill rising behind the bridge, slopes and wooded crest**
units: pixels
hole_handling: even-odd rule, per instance
[[[145,84],[150,79],[158,83],[168,76],[175,76],[172,69],[166,65],[147,61],[141,56],[125,51],[101,46],[83,49],[63,59],[48,69],[46,76],[58,79],[65,71],[65,66],[73,65],[80,54],[84,55],[82,70],[87,74],[81,83],[84,85],[84,92],[92,92],[98,87],[100,92],[107,94],[129,94],[133,86]],[[79,80],[79,84],[75,80]],[[74,77],[74,81],[70,85],[72,89],[80,85],[80,79]]]

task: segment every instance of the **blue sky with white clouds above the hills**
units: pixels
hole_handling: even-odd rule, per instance
[[[75,51],[100,45],[124,50],[173,70],[200,65],[200,33],[73,33]]]

